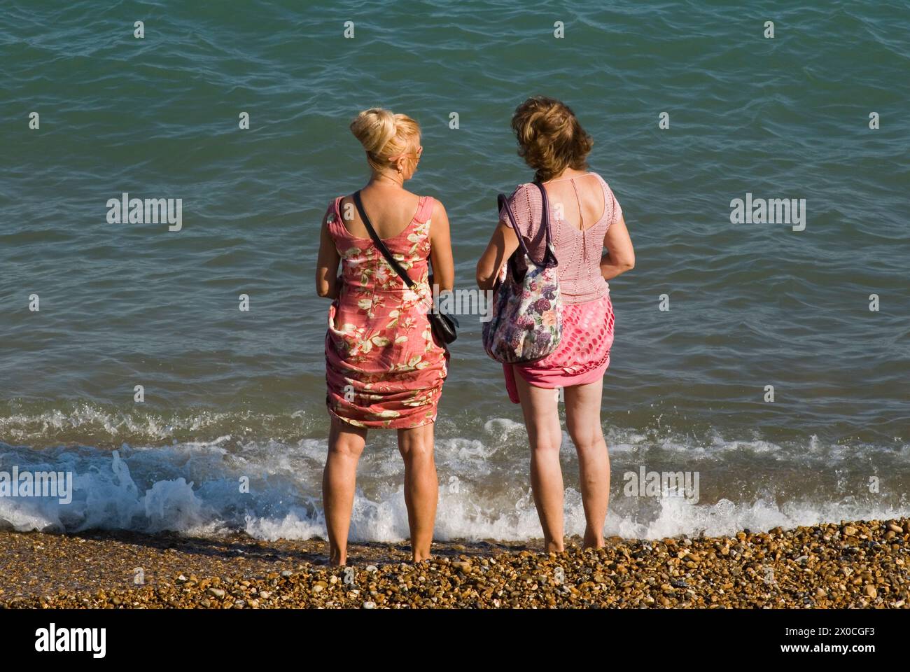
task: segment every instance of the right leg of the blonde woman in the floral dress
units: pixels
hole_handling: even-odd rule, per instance
[[[433,457],[433,423],[399,430],[404,458],[404,503],[408,507],[410,548],[415,563],[430,557],[440,481]]]

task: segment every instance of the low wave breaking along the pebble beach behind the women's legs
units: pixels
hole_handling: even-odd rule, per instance
[[[436,537],[443,541],[538,538],[540,524],[528,484],[523,426],[494,419],[484,423],[482,431],[485,436],[480,438],[441,438],[437,443]],[[620,431],[612,433],[615,439]],[[804,446],[802,455],[842,459],[841,465],[833,467],[834,481],[813,482],[803,466],[786,457],[791,454],[788,448],[763,440],[728,442],[716,437],[712,447],[687,444],[680,437],[659,445],[643,434],[627,433],[625,439],[611,442],[613,484],[607,535],[645,539],[731,535],[744,528],[764,531],[910,514],[906,468],[896,475],[890,472],[884,494],[865,492],[854,487],[864,478],[863,469],[844,472],[845,464],[855,462],[854,456],[838,455],[834,447],[817,441]],[[267,540],[325,538],[319,496],[325,450],[324,439],[234,443],[230,435],[159,447],[124,443],[114,451],[62,445],[36,450],[0,443],[0,470],[72,474],[71,501],[66,504],[60,497],[0,496],[0,527],[65,533],[243,531]],[[799,453],[792,454],[795,459]],[[572,457],[564,453],[567,481],[575,468]],[[760,477],[756,461],[769,460],[774,463],[774,475]],[[905,456],[895,454],[895,464],[899,463],[905,463]],[[658,471],[696,469],[702,476],[701,498],[628,496],[625,480],[645,465]],[[788,470],[793,476],[783,477],[781,473]],[[352,540],[407,539],[402,473],[394,437],[368,447],[361,458]],[[580,535],[584,529],[581,495],[571,486],[565,491],[565,529],[568,535]]]

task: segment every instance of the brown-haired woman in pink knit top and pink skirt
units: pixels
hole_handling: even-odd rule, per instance
[[[548,97],[532,97],[512,117],[519,155],[534,170],[550,202],[553,249],[559,262],[563,331],[556,351],[541,361],[505,365],[512,402],[521,402],[531,443],[531,489],[547,551],[563,550],[562,432],[556,388],[564,391],[566,428],[578,453],[584,546],[603,545],[610,500],[610,458],[601,429],[603,374],[610,363],[613,311],[607,280],[631,270],[632,240],[612,190],[587,167],[591,137],[571,108]],[[477,265],[477,283],[491,289],[504,261],[524,239],[531,257],[545,249],[542,198],[531,183],[515,189]],[[604,251],[604,248],[607,251]]]

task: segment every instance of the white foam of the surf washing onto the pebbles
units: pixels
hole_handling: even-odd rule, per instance
[[[488,423],[489,425],[489,423]],[[519,425],[519,428],[521,425]],[[508,423],[490,425],[492,433],[517,430]],[[227,435],[210,442],[164,447],[122,446],[113,453],[86,447],[35,451],[0,443],[0,464],[20,469],[74,473],[71,504],[47,498],[0,498],[0,525],[16,530],[80,531],[130,529],[155,533],[173,530],[214,535],[243,530],[262,539],[325,535],[319,482],[325,458],[323,440],[249,442],[224,447]],[[402,466],[394,437],[368,448],[360,469],[351,538],[398,542],[408,537],[402,492]],[[527,454],[495,441],[441,439],[438,445],[440,502],[436,536],[448,539],[526,540],[540,536],[540,524],[527,483]],[[632,438],[628,445],[645,442]],[[729,450],[715,453],[720,459]],[[766,453],[763,442],[735,443],[740,450]],[[615,446],[615,443],[613,444]],[[744,446],[744,447],[743,447]],[[674,449],[663,450],[673,453]],[[571,452],[571,446],[564,446]],[[819,450],[817,446],[815,450]],[[887,519],[910,514],[904,498],[877,504],[852,496],[797,495],[778,502],[768,492],[742,501],[693,504],[683,498],[624,497],[615,477],[608,535],[660,538],[671,535],[731,535],[738,530],[767,530],[848,519]],[[566,474],[567,482],[573,476]],[[240,487],[248,479],[249,492]],[[581,535],[581,496],[571,486],[565,494],[565,528]]]

